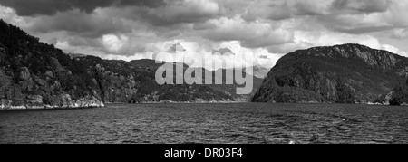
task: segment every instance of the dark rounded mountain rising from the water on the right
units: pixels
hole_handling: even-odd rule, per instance
[[[254,102],[373,102],[408,76],[408,58],[359,44],[315,47],[282,57]]]

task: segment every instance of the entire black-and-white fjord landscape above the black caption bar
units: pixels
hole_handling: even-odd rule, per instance
[[[408,1],[0,0],[0,144],[406,144]]]

